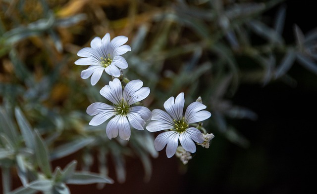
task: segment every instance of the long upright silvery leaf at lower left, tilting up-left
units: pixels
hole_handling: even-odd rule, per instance
[[[32,128],[30,126],[30,123],[26,120],[22,111],[18,107],[15,108],[15,117],[20,127],[26,146],[33,150],[35,148],[35,139],[33,136]]]

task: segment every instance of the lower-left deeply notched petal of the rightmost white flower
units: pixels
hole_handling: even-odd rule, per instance
[[[163,132],[154,140],[154,147],[157,151],[161,151],[167,144],[166,155],[167,157],[171,157],[176,153],[178,138],[179,133],[176,131]]]

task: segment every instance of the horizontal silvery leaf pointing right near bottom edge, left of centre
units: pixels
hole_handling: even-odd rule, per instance
[[[67,184],[86,185],[93,183],[108,183],[112,184],[113,180],[110,178],[101,177],[97,173],[92,172],[75,172],[67,181]]]

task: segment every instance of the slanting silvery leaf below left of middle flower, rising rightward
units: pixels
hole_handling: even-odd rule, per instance
[[[94,138],[81,138],[56,147],[50,155],[51,160],[70,155],[94,141]]]

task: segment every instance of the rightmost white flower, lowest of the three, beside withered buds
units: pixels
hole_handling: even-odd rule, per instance
[[[203,121],[211,116],[206,109],[206,106],[200,102],[191,103],[183,116],[185,99],[184,93],[178,94],[174,101],[174,97],[170,97],[164,103],[166,112],[155,109],[152,111],[152,118],[147,130],[151,132],[168,130],[160,133],[154,140],[154,147],[157,151],[161,151],[165,145],[166,155],[171,157],[175,154],[178,140],[182,147],[190,152],[196,152],[195,142],[203,143],[205,138],[203,134],[195,127],[190,127],[189,124]]]

